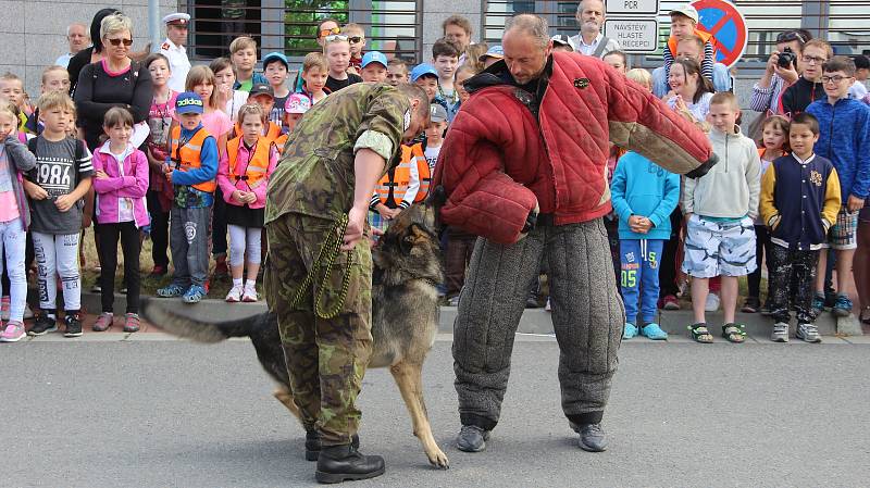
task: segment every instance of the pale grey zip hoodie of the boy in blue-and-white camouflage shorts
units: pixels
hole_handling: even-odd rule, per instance
[[[758,215],[761,190],[761,160],[753,139],[741,134],[710,132],[713,153],[719,164],[700,178],[683,177],[683,213],[707,217],[741,218]]]

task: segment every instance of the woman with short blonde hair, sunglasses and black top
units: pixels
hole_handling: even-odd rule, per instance
[[[82,70],[74,97],[78,125],[91,150],[99,145],[109,109],[125,107],[133,114],[134,123],[139,124],[148,120],[153,97],[148,68],[129,59],[133,21],[120,13],[107,16],[100,23],[100,40],[103,59]]]

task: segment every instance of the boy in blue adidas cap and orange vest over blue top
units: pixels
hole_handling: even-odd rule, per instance
[[[170,134],[170,154],[163,173],[172,184],[170,248],[175,273],[158,297],[182,297],[197,303],[208,293],[209,229],[217,175],[217,142],[202,126],[202,99],[194,92],[178,95],[175,114],[179,126]]]

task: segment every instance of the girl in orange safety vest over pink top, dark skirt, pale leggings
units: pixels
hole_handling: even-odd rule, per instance
[[[217,167],[217,185],[226,201],[226,223],[229,229],[229,272],[233,288],[228,302],[257,301],[257,272],[260,271],[265,190],[269,176],[278,162],[275,143],[264,137],[263,109],[258,104],[243,105],[238,111],[241,135],[226,143],[226,154]],[[245,259],[245,252],[248,259]],[[245,264],[248,279],[241,285]]]

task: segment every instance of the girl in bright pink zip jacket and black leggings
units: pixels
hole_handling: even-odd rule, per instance
[[[103,130],[109,136],[94,152],[94,190],[97,192],[97,238],[102,250],[102,313],[94,330],[112,326],[117,238],[124,252],[127,311],[124,331],[139,330],[139,229],[149,224],[145,196],[148,191],[148,157],[129,142],[133,115],[122,108],[105,113]]]

